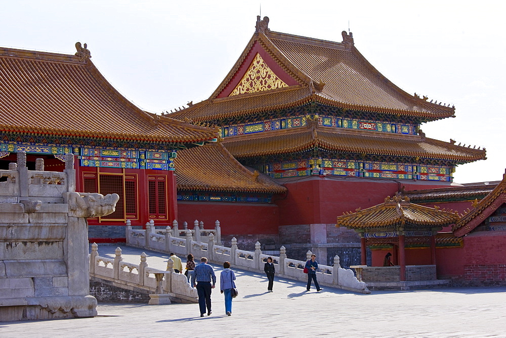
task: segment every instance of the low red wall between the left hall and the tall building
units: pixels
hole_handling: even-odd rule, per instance
[[[195,220],[204,222],[204,229],[220,221],[222,236],[277,235],[279,211],[275,204],[178,202],[179,229],[183,222],[193,229]]]

